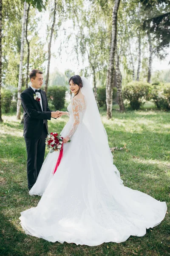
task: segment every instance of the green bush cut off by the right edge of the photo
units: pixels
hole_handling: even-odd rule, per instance
[[[170,83],[164,85],[154,85],[151,98],[158,109],[170,110]]]

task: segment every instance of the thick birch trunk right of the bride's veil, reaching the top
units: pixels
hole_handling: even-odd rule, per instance
[[[112,37],[111,37],[111,52],[108,68],[108,82],[106,84],[106,105],[107,105],[107,119],[112,117],[113,104],[113,78],[114,78],[114,57],[116,48],[116,33],[117,33],[117,12],[119,9],[120,0],[115,0],[112,14]]]

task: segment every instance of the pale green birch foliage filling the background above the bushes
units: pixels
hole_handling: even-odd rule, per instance
[[[27,33],[30,48],[29,70],[38,68],[45,74],[54,1],[26,0],[26,2],[30,4]],[[18,84],[23,3],[24,0],[3,0],[1,23],[3,88],[15,88]],[[74,61],[84,65],[79,70],[79,74],[87,76],[93,81],[95,96],[97,89],[106,87],[107,84],[113,5],[114,1],[105,0],[57,1],[57,15],[51,45],[55,43],[56,48],[59,48],[57,36],[62,27],[64,36],[60,49],[62,47],[65,47],[67,51],[69,49],[70,56],[73,52],[76,53],[77,60],[74,59]],[[14,6],[15,8],[13,8]],[[166,49],[170,42],[169,8],[168,0],[120,1],[117,14],[116,43],[119,58],[117,70],[120,71],[119,80],[122,81],[122,87],[126,87],[128,82],[135,80],[136,77],[139,81],[150,81],[151,83],[153,81],[169,81],[168,70],[166,76],[158,76],[152,72],[152,62],[155,56],[164,59],[167,55]],[[49,17],[45,21],[44,15]],[[45,37],[40,34],[42,21],[44,22],[43,26],[45,24],[47,28]],[[65,21],[70,23],[68,30],[63,28]],[[141,47],[139,47],[139,36]],[[71,50],[68,48],[70,42],[72,42]],[[28,78],[26,39],[24,49],[22,90],[25,88]],[[51,52],[52,54],[53,52]],[[139,55],[141,63],[139,63]],[[57,58],[57,55],[55,57]],[[114,68],[115,64],[114,60]],[[65,76],[69,78],[73,74],[72,70],[66,70],[63,76],[59,72],[53,72],[50,74],[49,86],[65,85],[67,84]],[[116,79],[112,84],[114,87],[117,86]],[[99,93],[97,94],[99,95]],[[111,108],[112,104],[110,104],[110,110]]]

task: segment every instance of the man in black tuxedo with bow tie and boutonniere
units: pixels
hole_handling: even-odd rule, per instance
[[[60,114],[48,108],[47,96],[40,88],[43,76],[40,70],[29,74],[31,85],[21,93],[24,109],[24,133],[27,149],[27,179],[30,190],[37,180],[45,154],[45,138],[48,134],[47,120],[58,118]]]

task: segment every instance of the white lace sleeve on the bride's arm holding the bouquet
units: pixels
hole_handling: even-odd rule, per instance
[[[71,101],[71,106],[73,110],[74,123],[71,126],[71,129],[68,133],[68,138],[71,138],[73,136],[74,132],[77,130],[77,127],[79,125],[79,122],[80,122],[79,112],[81,111],[81,108],[82,108],[82,102],[79,99],[73,99]]]

